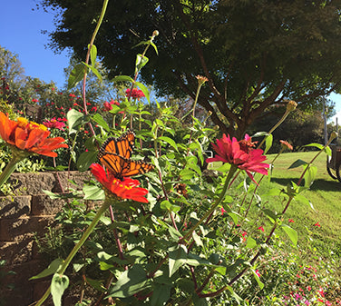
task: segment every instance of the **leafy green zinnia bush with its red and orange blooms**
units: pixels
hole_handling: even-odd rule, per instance
[[[223,134],[222,138],[209,141],[216,132],[195,116],[200,87],[207,80],[198,76],[190,126],[182,125],[169,108],[160,104],[157,104],[158,117],[149,120],[150,114],[139,102],[143,96],[149,101],[149,91],[137,79],[148,62],[148,47],[153,46],[157,51],[153,43],[156,35],[155,31],[143,42],[147,46],[142,54],[137,54],[134,77],[120,75],[113,79],[114,82],[131,82],[132,87],[122,103],[103,104],[104,116],[97,112],[97,105],[87,103],[85,97],[84,71],[101,78],[95,66],[95,35],[89,44],[86,62],[77,64],[69,78],[69,86],[84,82],[82,98],[69,95],[73,108],[66,114],[68,136],[74,136],[76,142],[78,133],[87,132],[86,150],[77,155],[72,148],[72,158],[81,171],[90,168],[96,180],[84,183],[83,194],[69,191],[53,195],[69,201],[68,210],[64,208],[57,220],[63,225],[71,224],[76,230],[65,237],[68,245],[72,245],[66,258],[54,259],[45,271],[33,277],[52,276],[51,286],[37,301],[38,306],[50,294],[54,305],[61,305],[63,293],[69,287],[67,274],[72,270],[71,263],[74,272],[82,269],[83,293],[79,294],[79,304],[247,305],[264,302],[264,296],[257,291],[265,288],[267,275],[274,273],[262,269],[273,237],[283,232],[287,235],[283,239],[297,245],[297,232],[289,226],[292,222],[283,222],[283,216],[291,202],[302,198],[300,193],[313,183],[316,171],[312,163],[316,157],[309,163],[299,161],[292,165],[303,166],[297,183],[269,192],[268,196],[283,203],[281,212],[258,205],[252,218],[248,214],[252,202],[261,202],[259,183],[277,158],[265,163],[264,153],[272,145],[271,133],[297,104],[293,101],[287,104],[286,113],[270,133],[256,135],[263,137],[259,144],[248,134],[241,140]],[[135,99],[132,104],[131,98]],[[105,120],[110,115],[112,123]],[[0,134],[20,153],[55,157],[52,151],[66,145],[61,137],[47,138],[51,132],[46,126],[58,130],[56,124],[63,120],[55,119],[59,118],[56,114],[50,118],[39,125],[23,119],[11,121],[0,113]],[[175,142],[179,126],[183,137]],[[122,134],[128,129],[135,133]],[[114,138],[112,134],[120,137]],[[212,183],[207,184],[200,165],[205,161],[204,151],[210,144],[215,156],[206,162],[212,163],[210,169],[214,175],[209,177]],[[290,149],[289,143],[281,144],[280,153]],[[330,153],[327,145],[313,145],[318,148],[317,155]],[[149,162],[142,160],[144,156]],[[102,165],[96,163],[98,159]],[[8,172],[4,171],[2,183]],[[135,175],[139,175],[139,181],[131,177]],[[303,180],[304,186],[301,185]],[[98,203],[93,212],[76,208],[88,200]],[[77,256],[78,253],[82,256]],[[312,272],[306,268],[297,271],[301,278],[300,274],[305,275],[306,282],[309,279],[306,275]],[[268,284],[268,288],[276,286],[275,282]],[[308,291],[306,287],[305,291],[289,291],[286,296],[272,295],[271,298],[277,298],[279,304],[305,303]],[[319,289],[318,294],[322,300],[326,289]]]

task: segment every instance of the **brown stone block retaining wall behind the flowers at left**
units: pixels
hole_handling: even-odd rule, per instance
[[[54,224],[54,215],[64,202],[50,199],[43,190],[62,192],[61,182],[65,191],[69,180],[82,188],[91,173],[58,175],[60,179],[55,173],[14,173],[8,181],[14,195],[0,196],[0,261],[5,260],[0,267],[0,306],[30,305],[49,285],[49,280],[29,281],[46,268],[34,245],[34,233],[41,236],[46,226]]]

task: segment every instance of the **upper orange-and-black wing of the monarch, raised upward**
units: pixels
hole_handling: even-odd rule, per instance
[[[124,158],[131,158],[132,150],[135,143],[135,133],[128,131],[123,133],[121,137],[108,138],[100,148],[100,153],[115,153]]]

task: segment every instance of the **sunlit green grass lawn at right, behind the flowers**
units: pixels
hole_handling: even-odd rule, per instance
[[[271,182],[263,185],[263,191],[283,188],[291,181],[297,183],[303,167],[288,167],[297,159],[310,162],[316,154],[317,152],[281,154],[274,164]],[[272,161],[274,156],[268,155],[268,161]],[[301,248],[313,246],[325,256],[341,257],[341,183],[327,173],[325,153],[321,153],[314,164],[317,166],[316,180],[309,190],[302,193],[314,209],[307,203],[294,201],[284,220],[290,218],[295,221],[290,226],[297,230]],[[282,210],[278,202],[273,205],[278,212]],[[320,226],[314,225],[317,222]]]

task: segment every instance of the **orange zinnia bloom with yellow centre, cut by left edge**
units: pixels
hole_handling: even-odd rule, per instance
[[[67,148],[68,145],[63,143],[62,137],[47,138],[50,133],[43,124],[28,122],[24,118],[14,121],[0,112],[0,136],[17,149],[55,157],[55,149]]]

